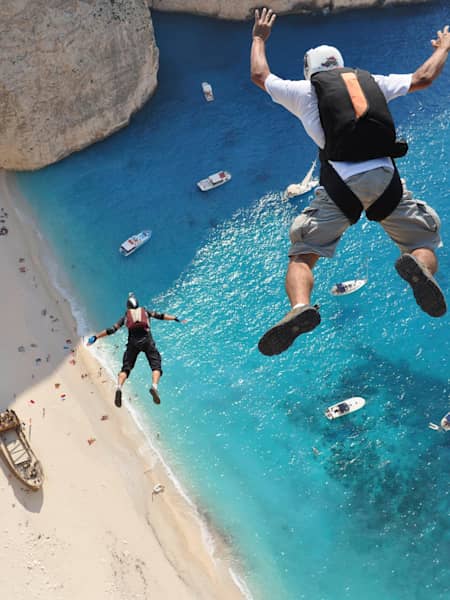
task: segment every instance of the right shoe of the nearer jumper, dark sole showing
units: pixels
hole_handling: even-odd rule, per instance
[[[403,254],[395,268],[411,286],[414,298],[424,312],[431,317],[442,317],[447,312],[444,294],[435,278],[412,254]]]

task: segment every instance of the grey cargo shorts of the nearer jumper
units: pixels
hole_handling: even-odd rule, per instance
[[[381,196],[391,178],[390,169],[379,167],[353,175],[346,184],[358,196],[364,209],[367,209]],[[351,225],[325,188],[316,188],[314,196],[311,204],[291,225],[289,256],[313,253],[331,258],[342,234]],[[438,214],[426,202],[413,198],[405,184],[399,205],[386,219],[380,221],[380,225],[401,252],[411,252],[416,248],[435,250],[442,246]]]

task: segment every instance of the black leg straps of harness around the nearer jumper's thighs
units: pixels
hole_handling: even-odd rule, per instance
[[[358,196],[339,177],[327,160],[321,161],[320,185],[323,185],[336,206],[344,213],[350,223],[354,225],[364,210],[363,205]],[[381,196],[366,210],[366,217],[370,221],[382,221],[397,208],[402,195],[402,182],[394,163],[394,173],[389,185]]]

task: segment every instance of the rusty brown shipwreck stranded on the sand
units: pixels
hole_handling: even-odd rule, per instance
[[[0,455],[12,473],[36,491],[44,482],[44,471],[22,429],[17,414],[7,409],[0,413]]]

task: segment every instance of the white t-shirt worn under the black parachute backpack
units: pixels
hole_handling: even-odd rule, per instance
[[[377,82],[387,102],[399,96],[405,96],[411,87],[411,73],[408,75],[372,75],[372,77]],[[281,79],[270,73],[264,84],[272,100],[284,106],[300,119],[306,133],[319,148],[323,148],[325,146],[325,134],[320,122],[316,90],[312,83],[307,80],[291,81]],[[342,161],[330,161],[330,163],[344,181],[352,175],[378,167],[394,169],[389,157],[374,158],[357,163]]]

